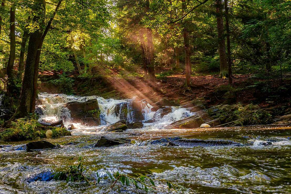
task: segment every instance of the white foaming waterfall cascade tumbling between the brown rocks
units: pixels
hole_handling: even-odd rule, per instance
[[[64,105],[68,102],[85,102],[87,100],[96,99],[98,101],[98,105],[101,111],[100,118],[101,125],[100,126],[89,126],[86,123],[74,122],[71,117],[70,110]],[[133,102],[134,99],[124,99],[124,100],[116,100],[116,99],[104,99],[98,96],[75,96],[75,95],[65,95],[65,94],[48,94],[48,93],[40,93],[39,95],[40,104],[36,106],[36,109],[41,109],[42,115],[39,118],[39,121],[44,122],[55,122],[63,119],[65,126],[69,126],[70,124],[74,125],[74,129],[71,131],[73,135],[79,134],[96,134],[100,133],[104,129],[105,125],[109,123],[117,122],[122,119],[121,112],[118,116],[116,116],[116,106],[119,105],[127,106],[125,114],[127,117],[127,122],[133,122],[134,113],[132,111],[132,107],[130,102]],[[151,111],[151,106],[147,102],[141,102],[142,106],[142,114],[145,122],[146,120],[153,119],[152,123],[144,123],[143,129],[148,130],[156,130],[162,129],[166,125],[175,122],[177,120],[189,117],[194,115],[195,113],[188,111],[186,108],[180,108],[178,106],[172,106],[172,111],[168,114],[161,116],[161,109],[157,111]],[[120,108],[121,110],[121,108]],[[124,114],[124,113],[123,113]],[[105,120],[105,121],[104,121]],[[107,121],[107,122],[106,122]],[[109,123],[108,123],[109,122]]]

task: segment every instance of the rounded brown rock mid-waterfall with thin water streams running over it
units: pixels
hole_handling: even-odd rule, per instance
[[[144,102],[122,102],[116,104],[115,114],[120,119],[125,119],[129,122],[137,122],[144,120],[143,108]]]

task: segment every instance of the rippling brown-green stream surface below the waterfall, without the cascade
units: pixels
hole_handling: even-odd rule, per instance
[[[134,135],[135,134],[135,135]],[[101,134],[100,134],[101,135]],[[64,144],[71,141],[90,142],[100,135],[72,136],[51,139],[63,145],[61,149],[40,152],[8,151],[1,148],[1,193],[139,193],[121,185],[110,190],[106,180],[87,186],[61,181],[28,183],[37,173],[55,171],[76,163],[84,156],[88,175],[104,170],[141,173],[167,179],[183,185],[182,193],[290,193],[291,127],[251,126],[190,130],[131,129],[124,133],[104,133],[104,136],[127,137],[130,145],[83,148]],[[240,143],[270,141],[271,145],[166,147],[159,144],[138,146],[149,139],[180,136],[199,139],[228,139]],[[23,144],[17,142],[13,145]],[[1,142],[1,145],[4,144]],[[84,145],[84,144],[83,144]],[[163,185],[162,185],[163,186]],[[165,189],[153,191],[169,193]],[[178,191],[177,191],[178,192]]]

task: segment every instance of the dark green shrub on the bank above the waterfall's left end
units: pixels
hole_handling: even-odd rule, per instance
[[[65,73],[59,74],[59,79],[50,80],[49,82],[59,86],[60,91],[65,94],[73,93],[74,79],[68,77]]]

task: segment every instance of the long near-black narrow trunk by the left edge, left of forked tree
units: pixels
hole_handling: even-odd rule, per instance
[[[15,60],[15,5],[13,4],[10,8],[10,54],[7,65],[7,96],[11,96],[15,89],[13,80],[13,66]],[[16,95],[16,94],[15,94]]]

